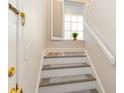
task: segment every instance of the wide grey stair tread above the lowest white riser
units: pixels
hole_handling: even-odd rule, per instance
[[[70,83],[88,82],[94,80],[96,79],[91,74],[51,77],[51,78],[41,79],[39,86],[44,87],[44,86],[62,85],[62,84],[70,84]]]

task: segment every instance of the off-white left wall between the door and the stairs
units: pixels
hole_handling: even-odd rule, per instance
[[[47,0],[21,0],[26,13],[23,27],[24,62],[19,65],[24,93],[35,93],[43,49],[47,48]],[[27,52],[27,53],[26,53]]]

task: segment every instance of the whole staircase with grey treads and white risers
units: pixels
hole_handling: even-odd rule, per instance
[[[85,53],[45,56],[39,93],[98,93]]]

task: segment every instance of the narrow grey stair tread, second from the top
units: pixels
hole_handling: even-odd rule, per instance
[[[43,70],[64,69],[64,68],[78,68],[78,67],[90,67],[90,65],[88,65],[87,63],[49,64],[49,65],[44,65]]]

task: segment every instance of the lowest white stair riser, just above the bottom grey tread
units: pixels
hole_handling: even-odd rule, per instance
[[[88,81],[88,82],[40,87],[39,93],[65,93],[65,92],[94,89],[94,88],[96,88],[96,81]]]

